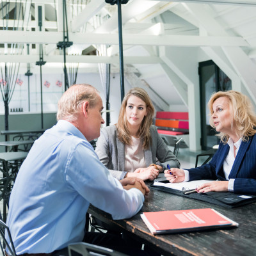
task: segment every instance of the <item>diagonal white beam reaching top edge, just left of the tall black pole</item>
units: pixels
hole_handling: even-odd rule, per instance
[[[104,6],[106,2],[104,0],[91,1],[86,5],[86,8],[77,15],[71,22],[71,31],[76,32],[81,26],[83,26],[88,20],[96,15]]]

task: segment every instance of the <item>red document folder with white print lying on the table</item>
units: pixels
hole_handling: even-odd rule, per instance
[[[152,234],[179,233],[238,226],[238,223],[211,208],[143,212],[141,218]]]

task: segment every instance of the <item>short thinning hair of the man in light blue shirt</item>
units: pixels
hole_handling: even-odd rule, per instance
[[[73,84],[70,86],[58,102],[57,120],[76,121],[77,113],[81,111],[84,101],[89,102],[90,108],[97,104],[97,92],[97,89],[90,84]]]

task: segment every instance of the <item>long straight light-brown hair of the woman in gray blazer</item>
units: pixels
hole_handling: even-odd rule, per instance
[[[122,143],[127,145],[131,143],[131,134],[129,132],[128,124],[127,124],[126,106],[127,106],[127,100],[132,95],[140,98],[146,104],[147,115],[144,116],[141,122],[140,129],[139,129],[139,136],[143,140],[143,148],[148,149],[152,141],[149,129],[150,129],[150,125],[152,125],[155,109],[152,104],[152,101],[150,100],[150,97],[148,96],[148,93],[142,88],[138,88],[138,87],[132,88],[125,95],[124,100],[122,101],[120,112],[119,112],[118,122],[116,124],[117,136],[118,136],[118,139],[122,141]]]

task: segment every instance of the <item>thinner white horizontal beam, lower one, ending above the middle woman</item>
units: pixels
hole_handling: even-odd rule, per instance
[[[8,62],[8,63],[35,63],[39,60],[39,55],[13,55],[13,54],[2,54],[0,55],[1,62]],[[51,63],[63,63],[63,56],[58,55],[44,55],[44,61],[51,62]],[[110,63],[116,64],[119,63],[118,56],[93,56],[93,55],[67,55],[66,56],[67,63]],[[159,57],[131,57],[125,56],[124,63],[125,64],[156,64],[162,63]]]

